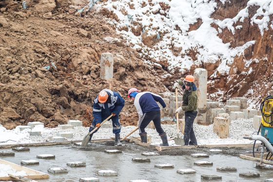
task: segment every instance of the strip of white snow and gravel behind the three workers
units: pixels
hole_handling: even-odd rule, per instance
[[[121,128],[121,138],[130,133],[136,126],[127,126]],[[162,125],[163,129],[167,132],[168,138],[176,137],[176,125],[165,124]],[[74,127],[74,129],[59,129],[59,128],[36,128],[41,131],[41,136],[30,136],[25,129],[20,131],[18,128],[13,130],[6,130],[0,125],[0,144],[13,144],[13,143],[31,143],[31,142],[49,142],[51,137],[55,137],[59,132],[72,132],[73,138],[67,140],[82,140],[88,133],[87,127]],[[253,128],[253,119],[239,119],[231,121],[230,136],[228,139],[220,139],[213,132],[213,125],[203,126],[194,124],[195,135],[199,145],[204,144],[239,144],[239,143],[251,143],[253,141],[243,139],[243,135],[251,135],[256,130]],[[160,137],[156,133],[155,129],[147,128],[146,132],[148,136],[152,137],[153,144],[159,144],[161,142]],[[112,128],[100,128],[93,139],[107,139],[114,137]],[[131,137],[139,137],[138,131],[131,135]],[[170,144],[174,144],[174,141],[170,141]]]

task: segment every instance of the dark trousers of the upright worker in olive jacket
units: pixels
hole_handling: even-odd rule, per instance
[[[185,145],[197,145],[194,132],[194,121],[197,115],[197,111],[187,111],[185,112],[185,133],[184,142]]]

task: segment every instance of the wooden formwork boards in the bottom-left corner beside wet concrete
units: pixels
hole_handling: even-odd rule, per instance
[[[48,179],[49,175],[36,171],[34,169],[30,169],[24,166],[20,166],[17,165],[15,163],[12,162],[8,162],[8,161],[4,161],[4,160],[0,160],[0,164],[5,164],[5,165],[9,165],[11,166],[13,169],[15,169],[16,171],[24,171],[27,175],[23,176],[25,178],[28,179]],[[14,180],[14,178],[10,177],[10,176],[0,176],[0,180]]]

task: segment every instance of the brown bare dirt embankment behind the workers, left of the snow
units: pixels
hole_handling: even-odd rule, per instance
[[[93,100],[110,82],[123,98],[130,87],[166,90],[155,71],[123,43],[101,14],[86,8],[81,14],[76,11],[88,1],[26,2],[24,10],[21,1],[0,1],[0,124],[4,127],[29,121],[55,127],[68,119],[88,126]],[[104,52],[114,55],[111,81],[99,78]],[[120,118],[123,125],[137,123],[135,108],[127,99]]]

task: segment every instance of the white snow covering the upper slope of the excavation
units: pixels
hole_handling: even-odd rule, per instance
[[[225,3],[226,0],[221,2]],[[233,63],[234,57],[243,54],[244,49],[255,41],[230,48],[230,43],[223,43],[217,34],[226,27],[233,33],[235,29],[240,29],[239,26],[234,27],[234,23],[238,20],[243,21],[248,16],[248,7],[252,5],[258,5],[260,8],[252,17],[251,23],[258,24],[263,34],[263,30],[268,28],[269,15],[273,14],[271,0],[250,0],[247,7],[237,16],[225,20],[211,18],[217,8],[215,0],[108,0],[99,4],[98,8],[107,8],[117,15],[119,21],[111,20],[110,23],[117,27],[118,33],[124,35],[128,45],[133,43],[132,47],[140,49],[143,58],[149,57],[145,60],[147,63],[152,65],[151,60],[168,60],[170,72],[174,67],[179,67],[183,72],[190,69],[192,64],[198,65],[201,61],[215,63],[220,60],[217,71],[225,74],[229,72],[229,65]],[[263,18],[259,20],[258,16]],[[190,24],[194,24],[198,19],[202,20],[200,27],[188,32]],[[132,31],[137,23],[142,26],[142,36],[136,36]],[[216,30],[211,23],[217,24],[220,28]],[[120,29],[121,27],[127,27],[128,31]],[[144,45],[142,42],[144,33],[156,36],[158,42],[150,47]],[[178,55],[172,52],[174,49],[178,50]],[[190,49],[197,52],[196,60],[187,56]]]

